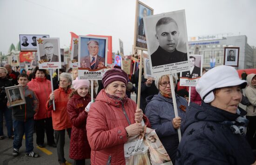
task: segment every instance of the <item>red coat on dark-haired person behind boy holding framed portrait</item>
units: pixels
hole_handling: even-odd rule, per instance
[[[39,109],[37,113],[34,114],[34,120],[52,117],[52,112],[47,111],[45,108],[48,96],[52,92],[51,82],[47,80],[46,77],[36,77],[28,82],[27,86],[35,92],[39,100]]]

